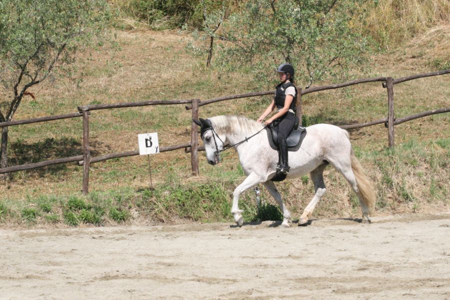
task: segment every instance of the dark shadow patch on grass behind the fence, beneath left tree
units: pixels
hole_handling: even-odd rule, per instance
[[[91,155],[96,151],[91,149]],[[82,143],[73,137],[45,138],[36,142],[20,139],[9,143],[9,166],[40,162],[50,159],[76,156],[83,153]],[[39,177],[67,171],[67,164],[60,163],[42,168],[27,170],[27,173]]]

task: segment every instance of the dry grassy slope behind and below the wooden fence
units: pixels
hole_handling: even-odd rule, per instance
[[[434,27],[401,49],[373,57],[369,71],[355,76],[399,77],[439,69],[450,60],[450,48],[445,42],[449,37],[448,25]],[[255,90],[242,74],[225,75],[205,69],[205,57],[192,57],[186,52],[189,40],[184,32],[118,31],[118,51],[101,49],[84,54],[78,63],[83,76],[73,78],[74,81],[47,81],[33,88],[36,100],[24,100],[15,119],[72,112],[80,104],[205,99]],[[82,81],[76,86],[78,79]],[[443,75],[395,85],[396,116],[448,107],[449,82],[449,76]],[[379,83],[365,84],[308,94],[303,97],[303,111],[309,123],[368,121],[386,116],[386,99],[386,91]],[[262,97],[221,102],[201,107],[200,114],[245,114],[256,118],[268,101]],[[182,105],[93,111],[90,120],[94,156],[136,149],[137,133],[157,131],[160,146],[190,139],[190,111]],[[382,125],[350,132],[355,152],[375,182],[376,213],[448,210],[449,122],[448,114],[440,114],[396,126],[394,152],[386,149],[387,130]],[[11,164],[81,152],[79,118],[15,126],[9,132]],[[133,215],[134,222],[139,223],[185,218],[231,220],[228,202],[233,186],[243,177],[235,153],[223,156],[223,163],[213,167],[205,163],[200,153],[199,177],[190,176],[190,156],[182,150],[151,156],[153,184],[157,187],[152,192],[145,191],[149,182],[146,157],[92,164],[92,192],[84,198],[91,205],[84,207],[85,213],[101,207],[98,215],[102,223],[121,220],[111,213],[113,208],[130,211],[128,216]],[[343,177],[331,168],[325,170],[325,177],[328,192],[314,216],[358,216],[357,201]],[[36,219],[39,224],[62,225],[62,220],[71,224],[67,212],[73,205],[68,203],[70,199],[83,199],[79,192],[81,180],[82,168],[73,164],[16,172],[12,181],[0,186],[0,218],[4,224],[13,225],[33,223]],[[307,177],[278,186],[287,197],[287,207],[296,216],[313,195]],[[243,196],[247,219],[257,218],[253,198],[252,191]],[[273,203],[264,190],[262,198]],[[49,204],[52,212],[45,212],[42,203]],[[79,216],[82,209],[82,205],[72,209],[80,222],[86,219]],[[54,215],[54,219],[48,215]]]

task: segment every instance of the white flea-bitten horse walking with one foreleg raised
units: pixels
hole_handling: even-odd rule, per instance
[[[194,122],[201,126],[201,139],[210,164],[220,161],[219,153],[225,149],[226,142],[237,151],[242,169],[247,175],[233,192],[231,213],[237,225],[240,227],[243,223],[243,210],[237,206],[239,195],[262,183],[279,205],[283,215],[281,226],[289,227],[290,213],[275,184],[270,180],[276,173],[278,153],[270,147],[267,134],[262,130],[264,127],[254,120],[234,115],[218,115],[206,120],[200,118]],[[308,222],[315,205],[325,193],[323,170],[328,163],[350,183],[359,198],[362,220],[370,222],[369,214],[375,204],[375,192],[353,154],[348,132],[330,124],[315,124],[306,127],[301,147],[289,152],[290,171],[286,178],[299,177],[309,172],[315,189],[314,197],[301,214],[298,224]]]

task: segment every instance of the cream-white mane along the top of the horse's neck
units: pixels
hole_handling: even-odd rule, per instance
[[[208,119],[218,134],[255,133],[262,128],[262,124],[241,115],[216,115]]]

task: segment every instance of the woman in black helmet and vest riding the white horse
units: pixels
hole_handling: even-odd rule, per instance
[[[289,166],[287,164],[286,138],[295,124],[297,88],[293,83],[294,68],[291,64],[283,63],[276,71],[278,72],[279,80],[281,82],[276,86],[276,92],[272,102],[267,106],[257,121],[262,122],[275,107],[277,108],[277,112],[268,120],[264,121],[264,124],[268,125],[275,121],[272,125],[276,126],[278,129],[277,142],[281,155],[281,162],[276,166],[276,171],[278,173],[288,174]]]

